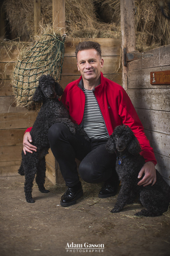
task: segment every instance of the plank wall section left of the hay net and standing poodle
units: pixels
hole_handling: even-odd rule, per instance
[[[12,97],[11,73],[18,51],[9,52],[0,47],[0,176],[18,174],[21,160],[22,140],[26,127],[33,124],[36,113],[26,108],[16,108]],[[11,61],[7,65],[7,63]]]

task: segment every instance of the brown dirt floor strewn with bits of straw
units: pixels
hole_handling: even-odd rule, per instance
[[[116,196],[100,199],[100,186],[87,183],[77,204],[62,207],[65,186],[48,180],[50,193],[42,194],[34,184],[36,201],[29,204],[23,187],[22,176],[0,178],[1,256],[170,255],[170,212],[135,217],[142,206],[130,204],[120,213],[111,213]],[[69,248],[72,243],[74,249]]]

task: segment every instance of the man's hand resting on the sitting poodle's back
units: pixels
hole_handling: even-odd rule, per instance
[[[142,177],[143,173],[144,173],[144,177],[142,180],[140,180],[137,183],[137,185],[139,185],[139,186],[143,185],[145,187],[152,183],[152,186],[153,186],[156,182],[155,165],[152,162],[146,162],[144,164],[144,166],[142,167],[142,169],[140,170],[137,178],[140,179]]]

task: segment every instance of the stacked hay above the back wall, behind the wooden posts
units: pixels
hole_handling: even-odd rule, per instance
[[[68,37],[121,37],[120,0],[66,0],[65,6]],[[170,20],[162,15],[159,1],[135,0],[135,6],[137,50],[170,44]],[[13,37],[33,41],[33,1],[5,0],[3,8]],[[167,1],[164,11],[169,14]],[[52,25],[52,0],[41,0],[41,24],[49,23]]]

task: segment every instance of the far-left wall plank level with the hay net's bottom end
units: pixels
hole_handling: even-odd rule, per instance
[[[16,98],[13,96],[0,97],[0,113],[28,112],[25,107],[16,107]]]

